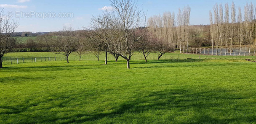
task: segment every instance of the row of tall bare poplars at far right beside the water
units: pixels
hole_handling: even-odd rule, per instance
[[[253,51],[253,55],[255,56],[256,6],[252,3],[246,3],[244,13],[242,13],[241,7],[238,7],[238,15],[234,2],[232,2],[231,6],[226,3],[224,7],[225,9],[223,9],[222,4],[216,3],[213,6],[213,14],[211,11],[209,14],[212,49],[216,48],[216,55],[219,54],[219,50],[222,55],[222,49],[225,49],[225,55],[229,54],[231,56],[232,52],[236,54],[235,52],[238,50],[239,55],[245,56],[246,51],[248,55],[251,55]],[[231,13],[229,13],[230,10]]]

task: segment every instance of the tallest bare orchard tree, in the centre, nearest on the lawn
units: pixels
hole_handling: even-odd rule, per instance
[[[105,11],[104,15],[111,19],[109,29],[115,39],[108,40],[106,44],[109,52],[123,57],[127,61],[127,68],[130,68],[134,43],[144,35],[136,35],[142,23],[141,10],[132,0],[110,0],[110,4],[114,11]]]

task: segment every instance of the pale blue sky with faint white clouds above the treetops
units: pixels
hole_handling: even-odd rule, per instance
[[[245,0],[233,0],[236,7],[246,4]],[[248,0],[248,3],[256,0]],[[191,7],[190,24],[209,24],[209,10],[215,3],[229,3],[232,0],[138,0],[138,5],[147,12],[147,18],[165,11],[177,13],[186,5]],[[59,31],[64,24],[71,24],[76,29],[88,27],[92,15],[100,15],[104,6],[110,6],[109,0],[0,0],[0,8],[19,21],[17,31]],[[29,14],[28,17],[21,16]],[[51,17],[55,14],[55,17]],[[30,15],[34,14],[34,15]],[[36,16],[37,14],[37,16]],[[41,15],[40,15],[41,14]],[[43,18],[43,14],[48,17]],[[70,14],[70,17],[56,17]]]

